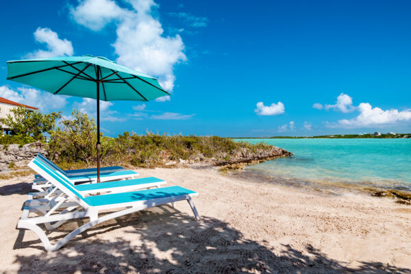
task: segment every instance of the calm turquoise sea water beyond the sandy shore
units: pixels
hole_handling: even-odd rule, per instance
[[[329,182],[411,191],[411,139],[241,139],[294,155],[247,166],[275,182]]]

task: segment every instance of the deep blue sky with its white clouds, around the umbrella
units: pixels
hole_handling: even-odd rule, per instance
[[[310,136],[411,132],[410,1],[7,1],[0,97],[45,112],[91,99],[6,80],[5,62],[102,55],[170,99],[102,103],[122,132]],[[46,94],[47,93],[47,94]]]

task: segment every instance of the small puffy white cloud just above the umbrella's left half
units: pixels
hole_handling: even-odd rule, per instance
[[[37,42],[46,44],[47,51],[38,49],[32,53],[27,54],[27,58],[48,58],[55,56],[73,55],[73,45],[67,39],[61,40],[58,34],[53,32],[48,27],[38,27],[34,32],[34,38]]]

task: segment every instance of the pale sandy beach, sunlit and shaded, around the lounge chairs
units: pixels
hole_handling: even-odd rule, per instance
[[[247,182],[215,169],[141,169],[199,192],[102,223],[47,253],[16,223],[33,176],[0,181],[2,273],[411,273],[411,207]],[[66,223],[61,238],[81,221]]]

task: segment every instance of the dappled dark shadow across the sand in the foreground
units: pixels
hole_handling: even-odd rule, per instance
[[[76,225],[68,223],[59,231]],[[121,238],[105,240],[106,232]],[[15,249],[44,251],[39,240],[23,242],[23,238],[24,232]],[[55,253],[18,256],[15,263],[20,266],[18,273],[411,273],[378,262],[358,262],[356,269],[350,269],[310,245],[305,250],[267,246],[218,219],[204,216],[196,222],[162,206],[102,223]]]

